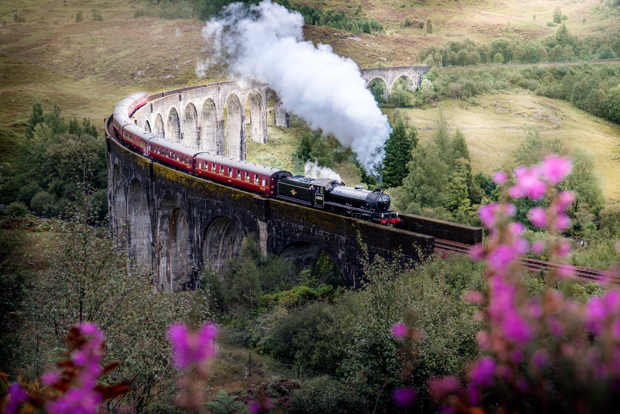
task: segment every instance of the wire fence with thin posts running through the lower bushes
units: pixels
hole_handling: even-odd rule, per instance
[[[268,372],[270,374],[276,374],[290,379],[298,379],[300,381],[309,381],[313,378],[322,376],[342,380],[340,377],[312,371],[312,369],[305,368],[301,366],[301,364],[291,365],[271,361],[270,359],[261,358],[257,354],[239,351],[239,349],[234,349],[218,342],[215,343],[215,353],[222,361],[246,369],[249,375],[265,375],[265,373]]]

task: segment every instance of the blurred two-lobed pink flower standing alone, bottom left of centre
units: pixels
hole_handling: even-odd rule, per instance
[[[175,323],[168,329],[168,338],[172,344],[172,361],[174,366],[185,369],[192,364],[206,362],[213,354],[213,339],[217,336],[214,323],[205,324],[199,331],[188,333],[182,323]]]

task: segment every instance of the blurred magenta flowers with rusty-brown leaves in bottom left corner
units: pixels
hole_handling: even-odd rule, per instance
[[[92,323],[71,327],[64,338],[71,359],[58,362],[59,371],[48,372],[40,381],[23,378],[9,386],[2,405],[5,414],[96,414],[97,405],[130,391],[129,382],[116,385],[97,384],[99,379],[120,365],[100,366],[105,352],[104,334]],[[6,375],[2,374],[6,382]],[[41,387],[41,384],[44,386]]]

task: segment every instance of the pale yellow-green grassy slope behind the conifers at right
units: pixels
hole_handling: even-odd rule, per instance
[[[448,99],[444,101],[449,125],[461,128],[469,145],[473,171],[492,172],[509,164],[511,151],[523,140],[523,123],[542,125],[541,137],[560,138],[565,150],[573,144],[590,149],[596,155],[598,171],[609,200],[620,198],[620,162],[618,156],[620,127],[582,110],[569,102],[549,99],[533,94],[485,94],[476,97],[476,105],[468,101]],[[437,107],[429,110],[407,110],[418,128],[432,127]],[[384,109],[391,120],[393,109]],[[560,122],[563,127],[556,130]],[[432,130],[418,130],[420,142],[430,138]]]

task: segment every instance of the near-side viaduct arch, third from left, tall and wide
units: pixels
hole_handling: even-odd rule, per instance
[[[194,288],[190,236],[184,210],[173,196],[165,196],[157,210],[157,290],[179,292]]]

